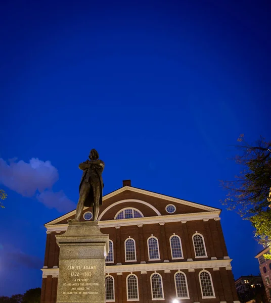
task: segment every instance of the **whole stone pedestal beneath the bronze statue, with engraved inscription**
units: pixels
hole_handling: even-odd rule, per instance
[[[60,247],[57,303],[105,302],[105,258],[108,234],[98,222],[70,222],[56,235]]]

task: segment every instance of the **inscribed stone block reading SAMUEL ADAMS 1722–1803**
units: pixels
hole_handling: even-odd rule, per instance
[[[105,296],[104,261],[60,260],[57,302],[100,302]]]

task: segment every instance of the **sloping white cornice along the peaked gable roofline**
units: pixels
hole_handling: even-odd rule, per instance
[[[201,209],[201,210],[205,210],[205,211],[209,211],[209,212],[213,212],[213,211],[218,211],[219,213],[221,212],[221,210],[217,209],[217,208],[201,205],[201,204],[194,203],[194,202],[191,202],[191,201],[178,199],[178,198],[174,198],[174,197],[171,197],[171,196],[167,196],[167,195],[163,195],[163,194],[160,194],[160,193],[156,193],[156,192],[152,192],[152,191],[148,191],[148,190],[140,189],[140,188],[136,188],[136,187],[131,187],[131,186],[124,186],[124,187],[121,187],[121,188],[119,188],[119,189],[117,189],[113,192],[110,192],[110,193],[106,194],[105,196],[103,196],[103,201],[105,201],[105,200],[107,200],[107,199],[125,191],[125,190],[129,190],[129,191],[145,194],[145,195],[148,195],[148,196],[164,199],[164,200],[174,202],[174,203],[178,203],[178,204],[188,205],[188,206],[198,208],[198,209]],[[87,208],[85,207],[84,210],[85,209],[87,209]],[[59,217],[59,218],[57,218],[53,221],[50,221],[50,222],[46,223],[45,225],[53,225],[53,224],[56,224],[60,221],[63,221],[65,219],[75,215],[75,212],[76,212],[76,210],[71,211],[71,212],[69,212],[69,213],[67,213],[67,214],[65,214],[65,215],[63,215],[63,216],[61,216],[61,217]]]

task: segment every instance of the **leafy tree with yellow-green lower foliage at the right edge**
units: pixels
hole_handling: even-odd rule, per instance
[[[255,227],[255,237],[271,247],[271,141],[260,137],[254,145],[240,135],[236,146],[241,152],[234,159],[243,167],[234,181],[221,181],[228,195],[222,201],[229,210],[236,210]],[[271,259],[271,254],[265,255]]]

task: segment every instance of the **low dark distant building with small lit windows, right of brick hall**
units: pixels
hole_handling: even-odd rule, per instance
[[[261,276],[241,276],[235,281],[235,287],[241,302],[248,302],[263,292]],[[254,300],[254,302],[257,302]],[[259,301],[260,302],[260,301]]]

